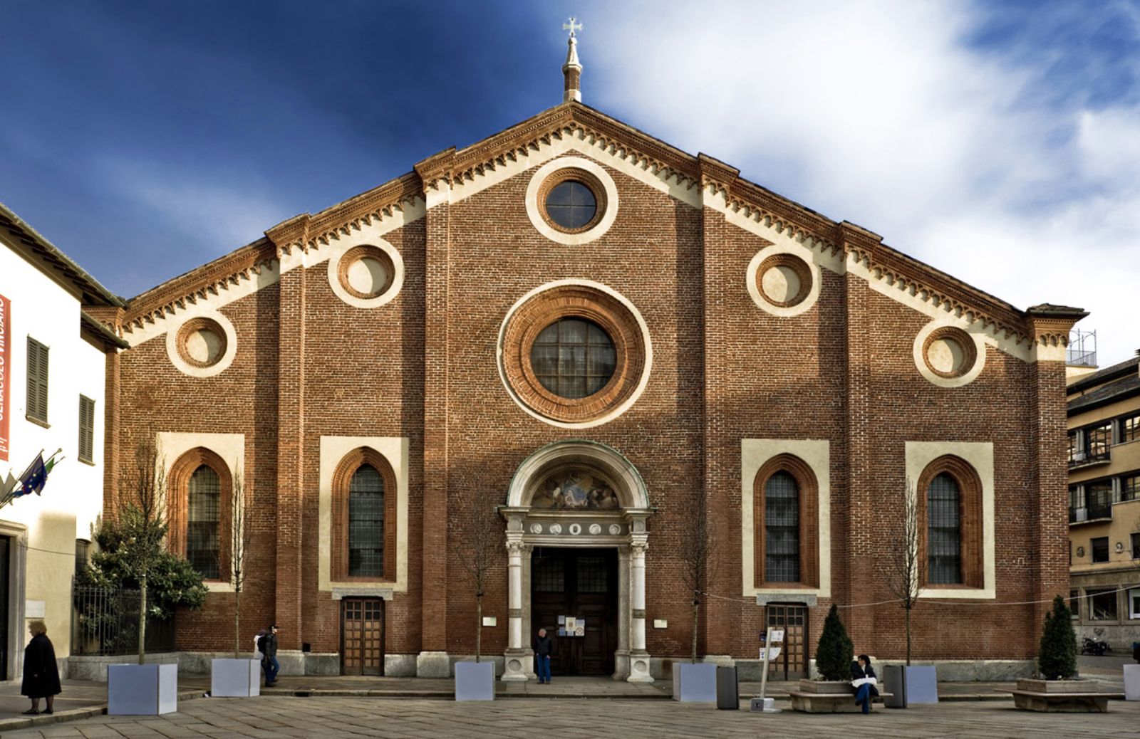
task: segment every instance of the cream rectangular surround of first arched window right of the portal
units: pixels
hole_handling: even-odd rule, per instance
[[[791,454],[804,460],[815,475],[819,493],[819,541],[820,541],[820,586],[819,588],[757,588],[756,542],[754,510],[756,475],[760,468],[780,454]],[[788,438],[742,438],[740,440],[740,541],[741,574],[744,597],[759,600],[803,601],[805,598],[831,598],[831,444],[826,440]]]

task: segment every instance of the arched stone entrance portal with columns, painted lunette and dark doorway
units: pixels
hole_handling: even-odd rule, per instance
[[[536,679],[535,635],[539,626],[554,626],[556,673],[610,672],[614,680],[653,682],[645,650],[645,523],[652,510],[629,460],[594,442],[549,444],[519,466],[499,510],[507,522],[510,589],[503,680]],[[553,581],[536,582],[559,573],[561,590]],[[589,592],[603,588],[605,592]],[[568,608],[583,610],[584,633],[562,644],[557,616],[579,616],[556,613]]]

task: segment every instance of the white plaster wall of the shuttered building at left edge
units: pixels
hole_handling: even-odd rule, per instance
[[[64,657],[68,654],[75,540],[91,537],[91,526],[103,511],[106,355],[80,336],[79,301],[2,239],[0,294],[11,302],[11,451],[8,460],[0,460],[0,477],[9,470],[18,476],[41,449],[44,458],[57,449],[63,449],[64,457],[42,495],[17,499],[0,509],[0,519],[27,526],[26,599],[43,601],[48,635],[56,655]],[[28,335],[49,347],[49,428],[25,419]],[[79,461],[80,394],[95,401],[93,465]],[[24,624],[9,625],[26,640]]]

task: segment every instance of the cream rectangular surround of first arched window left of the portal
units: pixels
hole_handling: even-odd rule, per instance
[[[332,578],[333,545],[333,474],[347,454],[367,446],[388,460],[396,476],[396,581],[374,582]],[[319,501],[317,556],[317,589],[331,594],[333,600],[360,594],[385,600],[391,593],[408,590],[408,437],[407,436],[321,436],[319,458]],[[386,492],[385,492],[386,494]]]

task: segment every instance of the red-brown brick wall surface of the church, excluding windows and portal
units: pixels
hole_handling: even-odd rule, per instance
[[[532,172],[386,235],[406,277],[381,307],[345,305],[320,263],[222,310],[237,329],[237,355],[214,378],[177,371],[164,337],[122,355],[120,462],[147,429],[246,435],[246,488],[258,518],[244,631],[276,619],[285,648],[302,641],[315,651],[339,648],[339,606],[317,590],[323,435],[410,438],[409,586],[388,607],[389,652],[473,651],[474,597],[449,545],[462,501],[488,487],[505,499],[526,457],[569,438],[625,454],[658,508],[650,519],[646,613],[667,618],[669,629],[649,630],[653,656],[689,651],[691,597],[677,523],[700,496],[722,537],[700,650],[756,654],[764,609],[741,596],[741,506],[751,504],[740,492],[744,437],[830,442],[831,577],[840,603],[889,598],[876,563],[885,553],[881,532],[897,519],[890,501],[905,484],[906,441],[993,442],[997,600],[1064,591],[1061,555],[1043,553],[1054,545],[1062,551],[1064,469],[1058,462],[1040,476],[1028,471],[1047,453],[1061,459],[1064,368],[1028,366],[987,348],[977,380],[936,387],[912,356],[928,319],[861,278],[824,270],[811,310],[773,317],[752,303],[744,284],[763,239],[611,170],[620,198],[613,227],[591,244],[553,244],[526,214]],[[560,429],[510,399],[496,340],[523,294],[575,278],[633,302],[650,327],[653,367],[621,417]],[[1042,501],[1040,510],[1033,499]],[[181,614],[179,647],[228,648],[230,599],[212,594],[202,611]],[[830,602],[812,610],[813,652]],[[984,602],[920,603],[915,656],[1032,655],[1041,609]],[[506,647],[506,606],[503,549],[483,603],[484,614],[499,617],[498,627],[482,630],[486,654]],[[902,617],[889,605],[844,610],[856,647],[876,655],[901,654]]]

